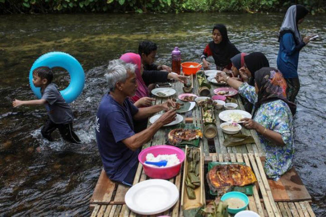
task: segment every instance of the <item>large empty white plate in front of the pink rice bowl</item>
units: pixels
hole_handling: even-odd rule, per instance
[[[138,214],[150,215],[171,208],[179,199],[177,186],[164,179],[148,179],[133,185],[124,196],[126,205]]]

